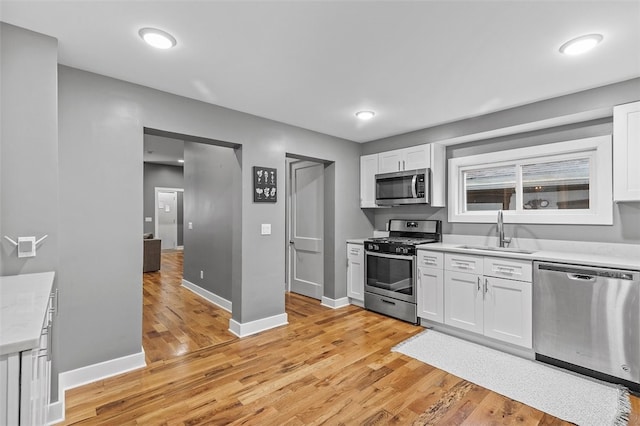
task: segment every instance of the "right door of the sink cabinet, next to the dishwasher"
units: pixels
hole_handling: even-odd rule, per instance
[[[531,283],[485,277],[484,334],[532,347]]]

